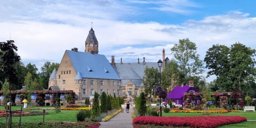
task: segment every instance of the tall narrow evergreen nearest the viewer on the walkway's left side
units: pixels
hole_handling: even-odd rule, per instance
[[[91,113],[92,120],[96,119],[98,116],[100,116],[99,94],[95,92],[94,98],[92,101],[92,113]]]

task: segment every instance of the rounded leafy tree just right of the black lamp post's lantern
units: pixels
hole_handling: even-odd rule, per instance
[[[162,88],[168,89],[170,92],[176,85],[178,85],[178,63],[172,59],[161,73]]]

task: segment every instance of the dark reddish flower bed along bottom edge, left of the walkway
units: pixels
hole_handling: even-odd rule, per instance
[[[51,122],[51,123],[22,123],[21,128],[99,128],[100,123],[94,121],[67,123],[67,122]],[[19,123],[12,123],[13,128],[19,128]],[[5,123],[0,123],[0,128],[5,128]]]

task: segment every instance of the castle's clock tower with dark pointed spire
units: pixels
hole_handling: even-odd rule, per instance
[[[99,52],[99,43],[92,28],[85,40],[85,52],[91,54],[98,54]]]

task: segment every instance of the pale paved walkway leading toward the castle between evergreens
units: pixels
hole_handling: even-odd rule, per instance
[[[120,112],[109,121],[100,122],[100,128],[133,128],[132,110],[133,107],[130,107],[129,113]]]

